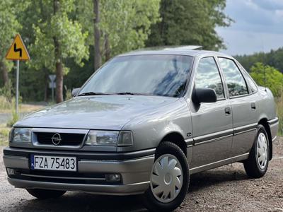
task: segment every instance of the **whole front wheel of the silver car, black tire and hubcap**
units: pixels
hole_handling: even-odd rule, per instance
[[[164,168],[168,168],[166,173],[161,172]],[[185,154],[175,143],[165,141],[156,149],[150,182],[143,195],[144,205],[149,211],[173,211],[185,199],[190,182],[189,165]]]

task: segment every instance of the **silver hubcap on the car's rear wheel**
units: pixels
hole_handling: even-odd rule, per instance
[[[260,166],[260,169],[264,170],[265,166],[267,165],[267,139],[265,134],[260,133],[258,135],[258,145],[257,145],[257,159],[258,159],[258,165]]]

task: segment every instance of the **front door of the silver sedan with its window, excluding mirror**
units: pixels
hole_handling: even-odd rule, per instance
[[[228,158],[233,136],[231,107],[214,57],[200,59],[195,69],[194,85],[195,88],[214,89],[217,101],[200,105],[190,101],[195,142],[192,169]]]

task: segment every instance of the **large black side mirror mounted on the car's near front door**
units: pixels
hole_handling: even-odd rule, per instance
[[[212,88],[195,88],[192,91],[192,102],[200,104],[202,102],[216,102],[217,96]]]

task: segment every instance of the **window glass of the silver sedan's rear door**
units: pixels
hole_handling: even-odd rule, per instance
[[[241,71],[231,59],[219,57],[219,64],[224,73],[230,96],[248,94],[246,81]]]

